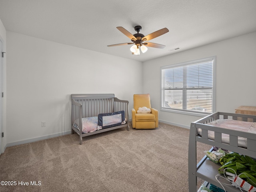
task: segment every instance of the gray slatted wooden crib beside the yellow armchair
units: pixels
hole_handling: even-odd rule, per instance
[[[72,94],[71,107],[71,134],[76,132],[80,136],[80,144],[82,138],[93,134],[98,134],[122,127],[126,127],[129,131],[129,112],[126,100],[119,100],[114,94]],[[102,113],[112,113],[118,111],[125,112],[126,124],[96,130],[94,132],[82,132],[82,118],[98,116]],[[77,126],[74,126],[77,125]]]

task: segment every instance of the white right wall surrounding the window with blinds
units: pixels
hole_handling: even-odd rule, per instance
[[[216,56],[216,111],[256,106],[256,32],[144,62],[143,90],[150,93],[152,106],[161,109],[161,66],[208,56]],[[159,118],[189,128],[202,117],[159,111]]]

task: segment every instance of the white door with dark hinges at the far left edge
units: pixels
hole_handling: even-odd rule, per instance
[[[3,98],[2,98],[2,92],[3,92],[3,57],[2,57],[2,52],[3,52],[3,43],[0,39],[0,154],[2,154],[2,125],[3,125],[3,119],[2,119],[2,109],[3,109],[3,106],[2,106],[2,101],[3,101]]]

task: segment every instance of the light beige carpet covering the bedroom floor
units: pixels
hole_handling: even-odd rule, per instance
[[[16,186],[0,191],[188,192],[188,137],[188,129],[160,123],[88,136],[82,145],[68,134],[9,147],[0,156],[0,181]],[[198,161],[208,149],[198,144]]]

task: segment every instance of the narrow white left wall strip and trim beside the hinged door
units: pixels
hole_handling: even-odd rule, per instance
[[[0,20],[0,38],[3,41],[3,45],[4,45],[3,52],[6,52],[6,30],[5,30],[4,25],[1,20]],[[2,69],[3,69],[2,88],[3,88],[4,95],[5,95],[4,98],[2,98],[2,106],[3,106],[2,132],[6,133],[6,55],[4,56]],[[0,154],[1,154],[1,151],[4,152],[5,146],[6,146],[6,136],[4,136],[2,138]]]

